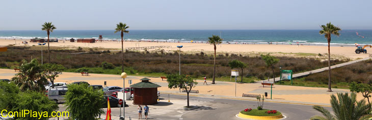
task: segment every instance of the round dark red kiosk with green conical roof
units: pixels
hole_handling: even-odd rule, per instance
[[[155,83],[149,82],[149,78],[142,78],[139,83],[130,85],[134,88],[133,104],[135,105],[153,105],[157,104],[157,87]]]

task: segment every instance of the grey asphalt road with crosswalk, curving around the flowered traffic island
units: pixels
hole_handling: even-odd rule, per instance
[[[168,97],[168,95],[161,95],[162,97]],[[161,97],[161,98],[162,98]],[[168,99],[168,98],[164,98]],[[183,110],[185,106],[187,96],[182,95],[170,95],[171,103],[162,102],[165,108],[153,109],[150,107],[149,119],[154,120],[188,120],[188,119],[203,119],[203,120],[217,120],[217,119],[233,119],[238,120],[242,118],[237,118],[235,115],[241,110],[246,108],[257,108],[257,101],[246,101],[246,100],[233,100],[233,99],[215,99],[215,98],[202,98],[190,96],[191,105],[198,106],[194,110]],[[165,100],[165,101],[166,101]],[[177,102],[178,101],[178,102]],[[130,103],[127,103],[130,104]],[[169,106],[179,106],[178,109],[171,109]],[[166,108],[168,106],[168,108]],[[64,111],[65,107],[60,104],[59,111]],[[285,119],[302,120],[308,119],[313,115],[322,115],[320,112],[314,110],[312,106],[309,105],[298,105],[298,104],[283,104],[283,103],[273,103],[264,102],[264,109],[278,110],[286,116]],[[330,107],[325,107],[331,110]],[[103,108],[106,111],[106,108]],[[121,109],[122,110],[122,109]],[[120,109],[112,108],[112,115],[119,116]],[[125,107],[126,116],[138,119],[137,106],[131,105],[130,107]],[[142,113],[142,118],[144,118],[144,113]],[[102,115],[104,117],[104,115]],[[101,117],[101,118],[103,118]]]

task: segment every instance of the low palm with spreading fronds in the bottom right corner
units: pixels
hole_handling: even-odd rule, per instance
[[[364,120],[372,117],[371,104],[366,104],[365,100],[357,101],[357,95],[351,93],[342,94],[337,93],[338,100],[335,95],[331,95],[331,106],[334,111],[332,115],[327,109],[321,106],[313,106],[313,108],[325,116],[315,115],[311,117],[311,120]]]

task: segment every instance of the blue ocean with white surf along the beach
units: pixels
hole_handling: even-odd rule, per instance
[[[224,43],[248,44],[311,44],[327,45],[327,39],[319,30],[130,30],[124,34],[125,40],[167,41],[167,42],[201,42],[208,37],[218,35]],[[372,30],[343,30],[340,36],[332,36],[331,45],[372,44]],[[118,40],[120,33],[114,30],[58,30],[50,34],[50,38],[98,38]],[[0,31],[0,38],[46,38],[45,31]]]

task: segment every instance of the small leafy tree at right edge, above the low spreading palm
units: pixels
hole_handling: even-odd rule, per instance
[[[362,96],[364,97],[364,99],[366,98],[369,103],[369,98],[371,97],[371,95],[369,94],[372,92],[372,86],[366,83],[351,82],[350,91],[356,92],[356,93],[362,93]]]

